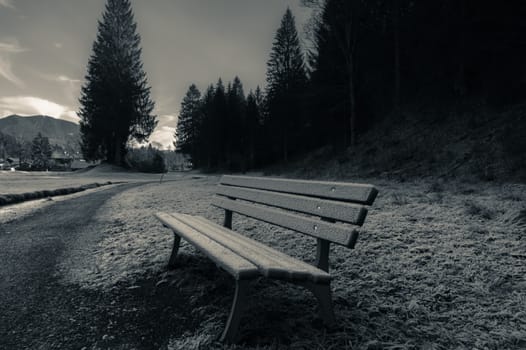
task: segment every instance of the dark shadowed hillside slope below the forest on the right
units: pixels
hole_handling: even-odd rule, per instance
[[[359,137],[354,148],[319,149],[268,174],[353,179],[381,176],[526,180],[526,106],[505,112],[387,118]]]

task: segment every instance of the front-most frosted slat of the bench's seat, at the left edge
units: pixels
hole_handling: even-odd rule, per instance
[[[177,235],[209,256],[216,264],[229,272],[236,280],[255,278],[259,269],[247,259],[239,256],[225,246],[215,242],[191,226],[177,220],[170,214],[159,212],[155,216]]]

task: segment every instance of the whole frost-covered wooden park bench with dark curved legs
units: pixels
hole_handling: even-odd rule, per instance
[[[175,234],[169,266],[174,266],[181,237],[230,273],[234,301],[222,341],[234,342],[249,281],[264,276],[308,288],[319,303],[322,320],[334,323],[330,289],[329,246],[353,248],[357,226],[378,191],[371,185],[223,176],[212,205],[225,210],[223,226],[200,216],[157,213]],[[232,213],[242,214],[316,238],[315,266],[232,231]],[[301,213],[301,214],[299,214]]]

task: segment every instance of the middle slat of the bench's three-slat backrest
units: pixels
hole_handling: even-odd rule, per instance
[[[360,205],[286,193],[223,185],[217,187],[216,193],[221,196],[239,198],[360,226],[363,225],[367,215],[367,209]]]

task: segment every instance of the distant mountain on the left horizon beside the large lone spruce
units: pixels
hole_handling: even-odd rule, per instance
[[[78,147],[80,127],[78,124],[48,116],[21,117],[10,115],[0,119],[0,132],[18,140],[32,141],[40,132],[49,143],[62,147]]]

